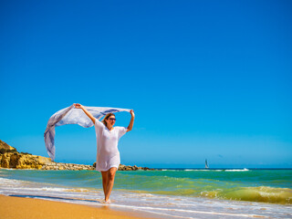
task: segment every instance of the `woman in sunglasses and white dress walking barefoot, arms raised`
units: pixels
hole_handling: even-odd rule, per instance
[[[110,203],[110,193],[113,187],[115,174],[120,165],[120,152],[118,150],[118,141],[127,131],[133,128],[135,114],[130,110],[130,124],[128,128],[113,127],[116,122],[116,117],[113,113],[107,114],[102,122],[95,119],[92,114],[86,110],[81,104],[74,104],[75,108],[83,110],[86,115],[92,120],[98,143],[97,155],[97,171],[102,175],[102,186],[105,196],[105,203]]]

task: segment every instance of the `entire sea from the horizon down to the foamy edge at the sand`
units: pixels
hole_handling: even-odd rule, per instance
[[[103,204],[95,171],[0,169],[0,194]],[[292,169],[117,172],[110,200],[162,218],[292,218]]]

